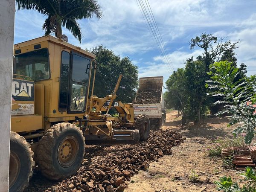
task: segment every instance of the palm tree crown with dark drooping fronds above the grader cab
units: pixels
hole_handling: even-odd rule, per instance
[[[70,30],[81,44],[82,32],[77,23],[79,19],[101,19],[102,9],[97,0],[16,0],[17,10],[31,9],[47,16],[42,30],[44,35],[55,32],[55,37],[62,37],[62,26]]]

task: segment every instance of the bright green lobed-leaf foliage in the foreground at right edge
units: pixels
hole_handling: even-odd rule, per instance
[[[210,66],[210,70],[208,75],[211,80],[207,81],[206,87],[212,90],[209,93],[211,96],[221,96],[215,104],[224,104],[224,109],[216,115],[230,114],[228,125],[241,123],[233,133],[245,132],[245,142],[251,143],[256,128],[256,115],[255,108],[248,101],[254,102],[256,97],[256,76],[234,81],[240,71],[228,61],[216,62]]]

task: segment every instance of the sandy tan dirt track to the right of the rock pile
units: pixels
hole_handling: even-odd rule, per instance
[[[214,181],[222,176],[231,176],[239,182],[241,172],[222,168],[220,158],[207,157],[207,146],[216,137],[232,137],[234,127],[227,128],[227,119],[209,118],[204,125],[180,126],[177,111],[166,114],[166,124],[163,129],[177,131],[186,137],[185,143],[172,148],[171,155],[165,155],[159,162],[149,164],[147,171],[139,171],[131,177],[131,183],[125,192],[215,192]],[[199,176],[200,182],[189,182],[192,169]],[[210,177],[210,183],[206,183]],[[241,183],[239,183],[241,184]]]

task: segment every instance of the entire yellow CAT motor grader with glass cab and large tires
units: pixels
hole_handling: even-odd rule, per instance
[[[122,76],[111,95],[93,95],[96,55],[52,36],[16,44],[14,54],[10,192],[29,185],[35,163],[51,180],[74,175],[85,143],[148,138],[148,117],[134,116],[132,103],[114,100]],[[110,116],[111,108],[119,116]]]

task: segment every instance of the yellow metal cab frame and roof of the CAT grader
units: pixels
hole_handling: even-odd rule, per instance
[[[40,44],[41,48],[47,48],[49,52],[49,65],[50,65],[50,79],[35,81],[35,114],[41,116],[40,126],[38,123],[39,116],[29,116],[30,121],[26,122],[26,126],[21,126],[20,129],[25,127],[26,131],[35,130],[35,127],[46,128],[49,124],[47,122],[61,122],[75,120],[75,116],[82,118],[84,113],[72,113],[58,111],[59,102],[59,87],[60,87],[60,71],[61,71],[61,52],[77,52],[88,58],[95,58],[96,55],[81,49],[80,47],[73,46],[61,39],[52,37],[50,35],[25,41],[23,43],[15,44],[14,51],[20,49],[21,54],[25,52],[34,51],[34,45]],[[21,117],[20,117],[21,118]],[[22,122],[25,122],[23,120]],[[46,121],[46,122],[44,122]],[[16,122],[12,121],[12,122]],[[35,124],[35,125],[31,125]],[[20,123],[21,124],[21,123]],[[23,124],[23,123],[22,123]],[[45,124],[45,125],[44,125]],[[17,123],[13,124],[17,130]],[[31,127],[31,128],[30,128]]]

